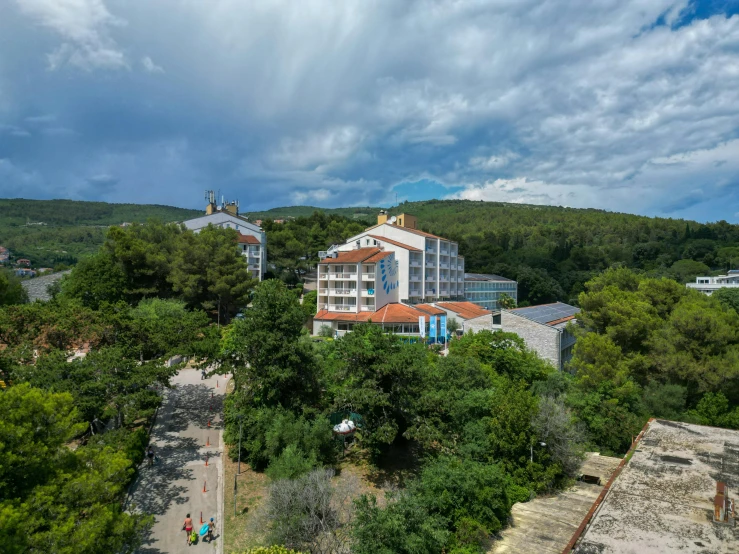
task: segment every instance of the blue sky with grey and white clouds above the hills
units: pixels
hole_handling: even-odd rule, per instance
[[[0,0],[0,197],[739,223],[739,0]]]

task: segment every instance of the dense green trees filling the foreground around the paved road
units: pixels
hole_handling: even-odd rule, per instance
[[[314,229],[318,243],[356,223],[314,214],[265,224],[292,225],[304,239]],[[255,546],[482,552],[514,502],[566,486],[586,451],[623,455],[649,417],[739,428],[737,291],[706,297],[643,268],[599,272],[578,296],[578,342],[560,372],[503,332],[467,334],[447,356],[372,324],[312,338],[304,323],[314,300],[301,303],[299,287],[281,279],[248,279],[235,238],[154,222],[111,227],[50,302],[23,303],[5,286],[5,550],[137,548],[151,518],[121,500],[161,388],[179,369],[164,363],[175,354],[233,375],[229,455],[239,455],[243,428],[241,458],[270,483],[248,518]],[[343,453],[332,425],[350,414],[360,428]],[[336,471],[353,463],[395,485],[382,498],[342,486]]]

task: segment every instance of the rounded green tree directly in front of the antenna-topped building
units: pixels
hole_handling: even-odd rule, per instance
[[[227,323],[249,301],[256,280],[237,248],[238,232],[208,225],[182,235],[169,281],[188,305],[215,310]]]

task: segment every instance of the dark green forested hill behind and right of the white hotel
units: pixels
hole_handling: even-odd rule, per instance
[[[307,215],[311,209],[276,208],[262,215],[282,219]],[[376,221],[379,211],[354,210],[357,215],[370,212],[355,218],[359,223]],[[532,304],[576,302],[585,281],[613,265],[680,282],[739,266],[739,226],[725,221],[702,224],[595,209],[469,200],[404,202],[389,210],[391,215],[402,212],[417,216],[422,230],[459,242],[468,271],[518,280],[519,300]],[[281,226],[265,224],[270,259],[287,261],[291,256],[283,254],[281,246],[291,238],[293,244],[305,243],[309,252],[308,237],[319,219],[297,217]]]

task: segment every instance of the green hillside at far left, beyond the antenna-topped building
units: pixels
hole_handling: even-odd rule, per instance
[[[97,251],[110,225],[182,221],[201,213],[160,205],[0,199],[0,246],[34,266],[73,264]]]

